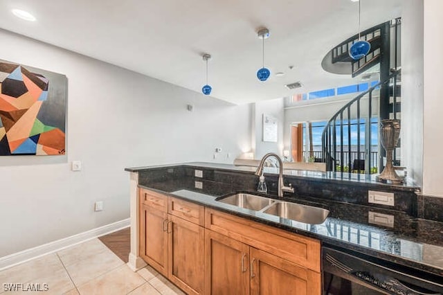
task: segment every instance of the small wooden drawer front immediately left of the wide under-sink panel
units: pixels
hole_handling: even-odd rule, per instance
[[[169,198],[168,213],[180,217],[183,220],[188,220],[188,222],[204,226],[204,210],[204,206],[186,202],[174,197]]]

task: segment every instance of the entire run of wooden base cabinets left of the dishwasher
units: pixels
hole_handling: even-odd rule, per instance
[[[188,294],[320,294],[320,242],[140,189],[140,256]]]

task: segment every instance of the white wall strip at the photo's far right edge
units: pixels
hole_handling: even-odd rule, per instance
[[[424,1],[423,193],[443,197],[443,1]]]

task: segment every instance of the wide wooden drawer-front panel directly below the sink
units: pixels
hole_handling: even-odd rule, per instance
[[[206,208],[205,227],[290,262],[320,272],[320,242]]]

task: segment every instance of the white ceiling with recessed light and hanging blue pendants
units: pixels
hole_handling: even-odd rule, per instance
[[[202,53],[210,53],[211,95],[237,104],[349,84],[321,68],[327,51],[354,35],[358,2],[350,0],[2,0],[0,27],[201,92]],[[18,19],[12,8],[37,21]],[[361,26],[401,16],[401,0],[362,0]],[[266,26],[265,66],[259,82]],[[3,44],[3,46],[5,46]],[[289,69],[293,66],[293,69]],[[274,73],[283,71],[283,77]],[[284,84],[300,81],[302,89]]]

